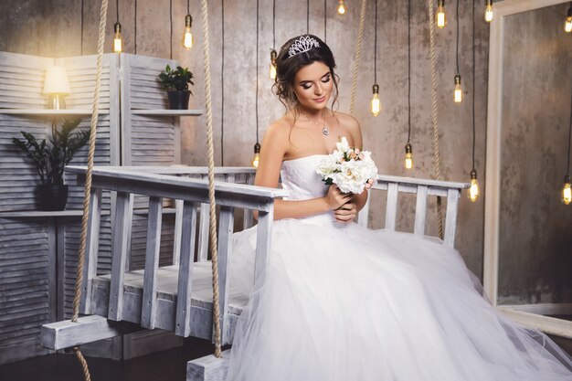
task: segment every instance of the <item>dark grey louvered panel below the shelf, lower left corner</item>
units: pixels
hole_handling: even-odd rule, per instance
[[[48,232],[42,223],[0,219],[0,354],[37,341],[49,322]]]

